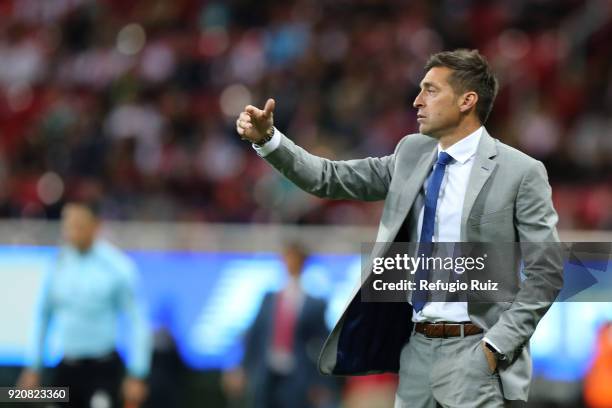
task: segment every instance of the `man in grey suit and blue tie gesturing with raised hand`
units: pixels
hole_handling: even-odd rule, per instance
[[[425,72],[414,101],[420,133],[404,137],[389,156],[311,155],[273,127],[272,99],[263,110],[247,106],[237,131],[309,193],[385,200],[376,242],[386,244],[372,256],[384,255],[394,241],[558,242],[544,166],[483,126],[498,89],[484,57],[476,50],[441,52]],[[522,264],[523,279],[506,289],[508,301],[477,302],[468,294],[465,301],[432,302],[413,292],[410,302],[363,302],[357,287],[323,347],[319,370],[398,372],[396,407],[526,401],[529,339],[562,287],[563,268],[556,252],[545,250],[523,254]]]

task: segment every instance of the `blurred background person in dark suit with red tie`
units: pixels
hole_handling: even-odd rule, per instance
[[[327,407],[333,402],[335,382],[317,371],[319,350],[329,333],[326,303],[300,285],[307,257],[297,244],[286,247],[287,284],[266,294],[247,332],[241,366],[223,376],[230,400],[246,391],[247,405],[253,408]]]

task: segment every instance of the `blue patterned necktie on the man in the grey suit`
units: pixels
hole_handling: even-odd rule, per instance
[[[425,193],[425,211],[423,213],[423,226],[421,227],[421,237],[419,244],[419,252],[417,256],[423,254],[425,258],[429,257],[432,253],[432,242],[434,234],[434,224],[436,219],[436,207],[438,206],[438,196],[440,195],[440,186],[442,185],[442,179],[444,178],[444,171],[446,165],[453,160],[453,157],[446,153],[440,152],[438,155],[438,161],[436,167],[429,179],[427,185],[427,192]],[[419,268],[416,272],[415,282],[417,288],[412,292],[412,308],[415,312],[423,310],[429,291],[421,290],[420,281],[428,280],[429,270],[426,268]]]

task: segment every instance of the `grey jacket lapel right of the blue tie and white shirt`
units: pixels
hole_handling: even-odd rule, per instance
[[[474,166],[472,167],[472,171],[470,173],[470,178],[465,192],[465,199],[463,202],[463,212],[461,214],[462,241],[466,241],[467,220],[472,212],[476,198],[497,166],[497,163],[494,160],[491,160],[495,156],[497,156],[495,139],[493,139],[486,129],[484,129],[480,143],[478,144],[476,158],[474,159]]]

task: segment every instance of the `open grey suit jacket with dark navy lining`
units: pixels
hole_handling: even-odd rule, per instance
[[[393,154],[332,161],[309,154],[282,136],[265,159],[303,190],[332,199],[385,200],[376,242],[395,240],[431,171],[437,141],[422,134],[404,137]],[[558,242],[557,214],[543,164],[483,132],[469,178],[461,219],[465,242]],[[365,238],[365,237],[364,237]],[[365,241],[365,240],[364,240]],[[386,244],[377,245],[382,256]],[[376,249],[375,249],[376,251]],[[531,381],[529,339],[563,285],[556,252],[523,259],[524,280],[511,302],[468,299],[471,320],[484,328],[507,357],[499,375],[506,399],[526,400]],[[541,292],[548,295],[543,298]],[[319,358],[323,374],[397,372],[409,341],[411,307],[361,302],[360,285],[327,339]]]

